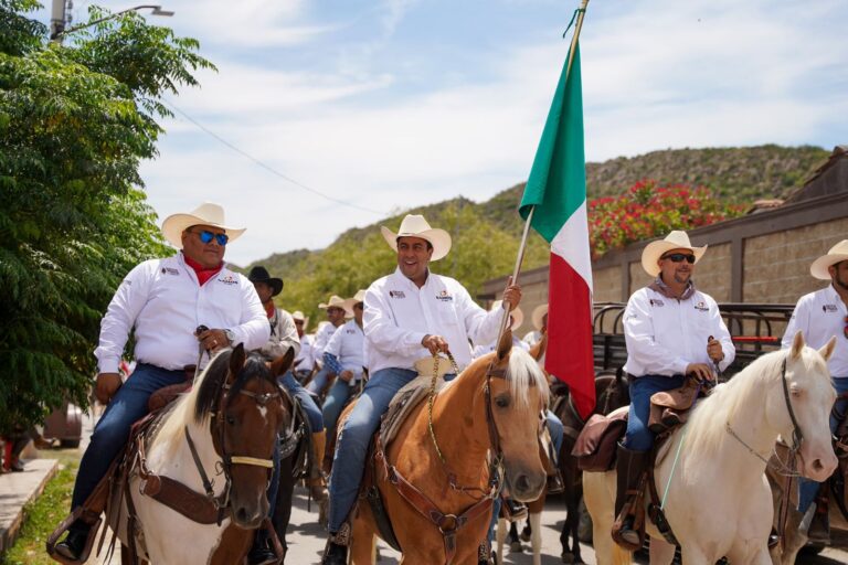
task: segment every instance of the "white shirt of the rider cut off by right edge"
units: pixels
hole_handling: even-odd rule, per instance
[[[807,345],[816,349],[823,348],[836,335],[836,349],[827,360],[827,367],[834,379],[848,379],[848,339],[844,334],[846,326],[848,307],[831,285],[801,297],[786,326],[782,347],[791,348],[798,330],[804,333]]]

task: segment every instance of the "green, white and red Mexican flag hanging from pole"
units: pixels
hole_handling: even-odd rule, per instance
[[[580,47],[570,72],[565,61],[519,211],[527,220],[536,207],[530,225],[551,244],[544,369],[568,383],[586,418],[595,406],[595,373]]]

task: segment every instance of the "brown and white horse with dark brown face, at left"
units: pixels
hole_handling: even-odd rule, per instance
[[[131,540],[126,521],[119,524],[125,546],[132,543],[139,557],[156,565],[241,563],[268,515],[274,444],[292,418],[292,401],[276,377],[292,359],[289,350],[268,367],[261,355],[246,356],[242,345],[215,355],[165,416],[130,475],[127,490],[137,519]],[[205,491],[223,520],[197,523],[144,495],[151,477]]]

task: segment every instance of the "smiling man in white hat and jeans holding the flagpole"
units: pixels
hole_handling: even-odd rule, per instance
[[[495,340],[501,320],[500,311],[486,312],[459,282],[430,271],[430,262],[451,249],[447,232],[431,228],[420,215],[406,215],[396,234],[386,227],[382,232],[398,253],[398,268],[365,294],[363,326],[371,377],[336,448],[325,564],[347,563],[348,515],[357,501],[371,436],[394,394],[415,377],[415,361],[451,351],[463,369],[471,361],[469,338],[475,343]],[[504,300],[515,309],[521,300],[520,287],[510,284]]]

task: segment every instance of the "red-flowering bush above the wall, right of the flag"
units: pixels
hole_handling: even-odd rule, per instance
[[[592,257],[671,230],[693,230],[743,212],[744,206],[724,204],[703,186],[660,186],[654,180],[639,181],[621,196],[605,196],[589,203]]]

